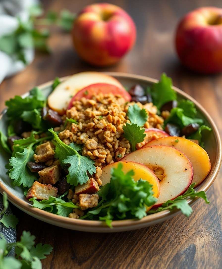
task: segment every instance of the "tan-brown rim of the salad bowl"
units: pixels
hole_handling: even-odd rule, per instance
[[[129,73],[119,73],[119,72],[102,72],[105,73],[106,75],[110,75],[115,77],[116,79],[136,79],[138,81],[143,81],[143,82],[148,82],[148,83],[156,83],[158,82],[157,79],[153,79],[151,77],[147,76],[141,76],[141,75],[135,75],[135,74],[129,74]],[[65,76],[61,77],[60,80],[64,81],[68,79],[70,76]],[[40,86],[37,86],[40,90],[44,89],[45,87],[50,86],[53,83],[53,80],[43,83]],[[216,179],[216,176],[219,172],[220,165],[221,165],[221,158],[222,158],[222,151],[221,151],[221,139],[220,139],[220,134],[219,131],[216,127],[216,124],[214,123],[213,119],[210,117],[208,112],[202,107],[202,105],[199,104],[193,97],[191,97],[189,94],[183,92],[182,90],[178,89],[177,87],[173,86],[173,89],[182,95],[182,97],[185,97],[186,99],[191,100],[196,107],[200,110],[200,112],[206,117],[207,121],[209,121],[210,125],[212,126],[212,130],[215,134],[216,137],[216,145],[217,145],[217,156],[215,160],[215,165],[212,171],[211,178],[207,180],[206,182],[203,183],[202,186],[200,186],[199,190],[204,190],[207,191],[210,186],[213,184],[214,180]],[[22,95],[22,97],[26,97],[29,95],[29,92],[25,93]],[[2,116],[6,113],[6,108],[3,109],[3,111],[0,114],[0,120]],[[26,201],[23,201],[16,195],[12,194],[7,187],[0,181],[0,191],[1,193],[6,192],[8,195],[8,200],[12,202],[16,207],[19,207],[21,210],[25,211],[28,214],[31,214],[33,217],[38,216],[41,220],[46,221],[46,219],[50,219],[51,221],[55,222],[53,223],[54,225],[57,226],[63,226],[70,228],[72,225],[76,229],[78,229],[78,226],[81,226],[81,230],[84,230],[84,228],[89,228],[90,230],[93,231],[93,228],[101,228],[103,227],[103,232],[104,228],[107,228],[110,230],[109,227],[105,226],[102,221],[95,221],[95,220],[79,220],[79,219],[72,219],[68,217],[63,217],[60,215],[56,215],[44,210],[41,210],[39,208],[34,208],[32,207],[29,203]],[[200,197],[196,197],[195,199],[188,199],[188,203],[192,205],[195,201],[197,201]],[[142,218],[141,220],[135,220],[135,219],[130,219],[130,220],[118,220],[118,221],[113,221],[112,226],[114,229],[112,229],[113,232],[115,232],[115,228],[122,228],[121,231],[124,231],[124,227],[127,228],[129,226],[133,226],[133,229],[138,229],[141,227],[149,226],[152,224],[155,224],[157,222],[160,222],[161,220],[164,221],[170,217],[173,217],[174,215],[178,214],[180,210],[164,210],[158,213],[150,214],[147,215],[146,217]],[[52,223],[52,222],[51,222]],[[152,223],[152,224],[150,224]],[[128,228],[129,229],[129,228]],[[120,230],[119,230],[120,231]],[[95,232],[98,232],[98,230],[95,230]]]

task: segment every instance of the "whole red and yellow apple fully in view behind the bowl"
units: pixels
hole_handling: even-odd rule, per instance
[[[118,62],[134,45],[136,26],[120,7],[98,3],[86,6],[77,16],[72,41],[79,56],[96,66]]]

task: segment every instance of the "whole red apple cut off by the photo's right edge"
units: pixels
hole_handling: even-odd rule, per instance
[[[222,71],[222,9],[203,7],[183,17],[176,30],[178,56],[189,69],[205,74]]]

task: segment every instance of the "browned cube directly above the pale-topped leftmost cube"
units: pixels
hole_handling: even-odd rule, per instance
[[[46,167],[43,170],[39,171],[38,174],[40,175],[40,178],[42,179],[42,182],[44,184],[52,185],[56,184],[60,176],[58,165]]]

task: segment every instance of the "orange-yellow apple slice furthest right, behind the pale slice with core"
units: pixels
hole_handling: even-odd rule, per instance
[[[211,164],[208,154],[202,147],[189,139],[176,136],[162,137],[150,141],[144,147],[153,145],[171,146],[181,150],[192,163],[192,183],[196,182],[196,186],[199,185],[210,172]]]

